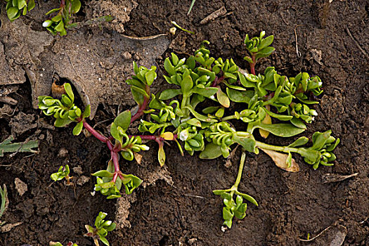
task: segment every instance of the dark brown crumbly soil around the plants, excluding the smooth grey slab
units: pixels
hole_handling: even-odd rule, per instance
[[[112,2],[114,8],[119,6],[119,1]],[[293,2],[197,0],[190,15],[186,15],[190,1],[143,0],[131,5],[129,21],[124,25],[117,22],[116,30],[114,25],[103,28],[143,37],[169,34],[170,22],[174,20],[193,30],[195,34],[180,30],[169,34],[171,44],[157,58],[160,66],[170,52],[186,56],[207,39],[214,57],[233,58],[240,67],[247,68],[242,60],[245,34],[257,35],[261,30],[273,34],[276,52],[260,60],[257,72],[273,65],[289,77],[301,71],[321,77],[324,93],[320,104],[314,106],[318,117],[303,135],[311,137],[315,131],[332,129],[334,136],[341,138],[335,150],[335,166],[314,171],[297,157],[302,170],[292,174],[276,167],[264,153],[247,154],[240,190],[252,195],[259,207],[249,204],[245,219],[235,221],[231,230],[224,232],[223,204],[212,195],[212,190],[233,184],[240,151],[227,168],[222,158],[200,160],[196,154],[181,157],[175,146],[168,146],[166,167],[160,169],[157,146],[149,143],[151,148],[143,153],[140,165],[121,160],[125,172],[152,179],[134,195],[122,198],[128,204],[122,212],[119,210],[124,207],[116,206],[116,200],[106,200],[98,193],[91,195],[95,179],[90,174],[103,169],[109,159],[105,145],[83,134],[72,136],[71,127],[51,129],[52,119],[32,108],[31,85],[26,79],[18,91],[10,94],[18,104],[0,117],[0,140],[11,134],[15,134],[16,141],[38,139],[39,153],[18,153],[0,159],[0,184],[8,187],[10,202],[1,220],[8,224],[22,222],[7,233],[0,233],[0,245],[48,245],[51,240],[93,245],[83,236],[84,225],[93,224],[99,211],[107,212],[108,219],[120,225],[108,235],[111,245],[330,245],[325,233],[311,242],[299,238],[306,239],[308,233],[313,238],[328,226],[338,224],[347,228],[343,245],[369,245],[369,1]],[[91,12],[89,3],[82,6],[79,19]],[[226,15],[200,24],[223,6]],[[1,8],[4,11],[2,2]],[[39,14],[37,9],[34,13]],[[82,30],[68,35],[78,32]],[[159,79],[157,83],[164,81]],[[6,85],[0,89],[4,88]],[[122,98],[127,101],[127,96]],[[124,107],[133,105],[131,100]],[[5,103],[0,103],[3,107]],[[107,133],[111,121],[103,120],[114,117],[115,110],[117,105],[100,105],[91,125],[98,123],[96,129]],[[18,131],[15,124],[24,115],[30,121],[28,125],[34,127]],[[267,142],[290,143],[273,136]],[[67,150],[67,155],[60,155],[61,149]],[[53,183],[50,174],[62,164],[81,167],[79,174],[72,171],[75,181],[81,176],[89,177],[89,181],[75,187]],[[323,183],[322,177],[327,173],[358,175]],[[27,184],[27,192],[22,196],[15,189],[15,178]],[[120,217],[115,214],[119,213],[128,215],[128,221],[117,221],[115,218]]]

